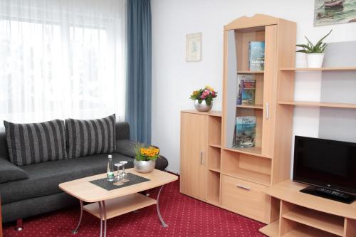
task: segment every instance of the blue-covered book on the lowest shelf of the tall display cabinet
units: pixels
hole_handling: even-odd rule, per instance
[[[236,117],[234,148],[254,147],[256,139],[256,117]]]

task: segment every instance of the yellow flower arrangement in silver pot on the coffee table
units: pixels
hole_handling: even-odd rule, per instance
[[[135,146],[134,167],[137,172],[150,173],[155,169],[156,159],[159,158],[158,147],[143,147],[142,144]]]

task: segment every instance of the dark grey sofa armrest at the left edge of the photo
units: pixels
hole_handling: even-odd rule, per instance
[[[0,184],[21,179],[28,179],[27,172],[4,157],[0,157]]]

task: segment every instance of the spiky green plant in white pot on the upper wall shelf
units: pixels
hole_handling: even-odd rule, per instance
[[[323,40],[330,35],[332,30],[326,35],[323,36],[323,38],[320,38],[320,40],[315,43],[315,45],[305,36],[307,39],[308,43],[307,44],[297,44],[296,46],[303,48],[300,49],[296,52],[299,53],[305,53],[305,56],[307,58],[307,65],[308,68],[321,68],[323,65],[323,60],[324,60],[324,51],[327,45],[327,43],[324,43]]]

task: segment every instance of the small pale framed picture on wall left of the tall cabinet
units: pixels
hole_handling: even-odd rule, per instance
[[[187,35],[187,62],[201,61],[201,33],[191,33]]]

